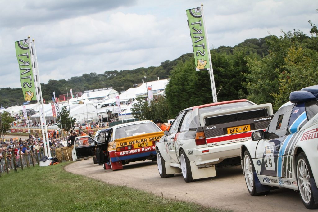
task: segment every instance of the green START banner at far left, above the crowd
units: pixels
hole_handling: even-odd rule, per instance
[[[35,85],[32,72],[29,39],[16,41],[16,54],[20,69],[20,80],[25,101],[36,100]]]

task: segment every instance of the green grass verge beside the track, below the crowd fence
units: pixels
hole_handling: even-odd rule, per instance
[[[31,167],[2,174],[1,210],[16,211],[214,211],[142,190],[116,186],[66,172],[63,167]]]

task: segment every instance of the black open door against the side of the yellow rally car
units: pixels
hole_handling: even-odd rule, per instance
[[[95,149],[95,157],[98,162],[98,164],[104,164],[106,162],[109,162],[108,156],[107,156],[107,148],[108,148],[108,142],[110,137],[112,136],[113,128],[111,128],[107,134],[106,131],[102,131],[99,134],[97,146]]]

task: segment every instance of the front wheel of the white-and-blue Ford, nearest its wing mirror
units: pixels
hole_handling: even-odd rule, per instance
[[[243,170],[244,170],[245,183],[250,195],[257,196],[257,195],[265,195],[269,193],[269,191],[257,192],[256,190],[256,186],[255,186],[256,174],[254,174],[255,168],[253,165],[251,155],[248,152],[248,150],[245,150],[243,155]]]

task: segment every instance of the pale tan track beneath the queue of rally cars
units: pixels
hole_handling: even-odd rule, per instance
[[[181,174],[162,179],[156,162],[135,162],[123,170],[104,170],[93,159],[74,162],[66,171],[101,181],[138,188],[164,197],[197,202],[207,207],[234,211],[307,211],[298,192],[280,188],[266,196],[249,195],[241,166],[217,168],[217,176],[186,183]],[[313,210],[308,210],[313,211]],[[315,211],[315,210],[314,210]]]

